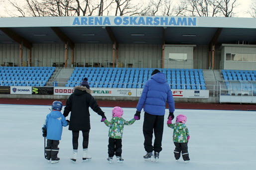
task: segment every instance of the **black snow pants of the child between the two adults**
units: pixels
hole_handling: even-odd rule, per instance
[[[122,139],[109,138],[109,157],[122,157]]]

